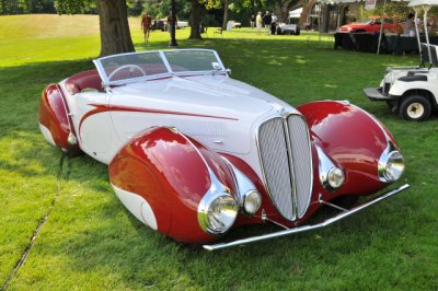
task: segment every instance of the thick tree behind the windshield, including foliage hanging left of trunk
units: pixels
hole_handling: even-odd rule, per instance
[[[97,8],[99,24],[101,30],[101,54],[134,51],[128,24],[128,8],[126,0],[56,0],[58,13],[83,13],[87,9]]]

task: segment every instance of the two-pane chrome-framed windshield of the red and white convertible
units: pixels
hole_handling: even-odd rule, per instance
[[[104,85],[119,85],[181,74],[226,72],[217,53],[208,49],[120,54],[96,59],[94,63]]]

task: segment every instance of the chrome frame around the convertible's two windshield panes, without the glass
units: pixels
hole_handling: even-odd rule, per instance
[[[206,71],[174,72],[172,70],[171,65],[169,63],[168,58],[165,57],[165,53],[168,53],[168,51],[209,51],[209,53],[212,53],[214,56],[216,57],[216,60],[219,63],[220,69],[219,70],[212,69],[212,70],[206,70]],[[168,72],[154,73],[154,74],[150,74],[150,75],[137,77],[137,78],[131,78],[131,79],[123,79],[123,80],[117,80],[117,81],[110,81],[108,77],[105,72],[105,68],[102,65],[102,60],[114,58],[114,57],[139,55],[139,54],[153,54],[153,53],[155,53],[160,56]],[[117,54],[117,55],[112,55],[112,56],[94,59],[93,62],[97,69],[99,75],[102,79],[102,85],[103,85],[103,88],[105,88],[105,90],[108,89],[110,86],[117,86],[117,85],[124,85],[124,84],[128,84],[128,83],[140,82],[140,81],[171,78],[174,75],[180,75],[180,77],[181,75],[205,75],[205,74],[217,74],[217,73],[228,75],[228,70],[224,68],[222,60],[219,58],[218,53],[212,49],[204,49],[204,48],[160,49],[160,50],[146,50],[146,51],[139,51],[139,53],[125,53],[125,54]]]

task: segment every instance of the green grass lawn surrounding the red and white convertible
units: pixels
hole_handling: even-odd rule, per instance
[[[166,32],[145,44],[139,19],[130,24],[137,50],[168,47]],[[402,147],[402,183],[412,188],[314,232],[217,253],[178,245],[125,210],[106,165],[85,155],[60,165],[39,133],[43,88],[91,69],[99,55],[96,16],[0,16],[0,289],[437,290],[437,116],[406,123],[361,93],[379,84],[385,66],[418,57],[333,50],[315,34],[214,31],[192,42],[188,28],[178,30],[178,45],[218,50],[232,78],[292,105],[349,100],[369,110]]]

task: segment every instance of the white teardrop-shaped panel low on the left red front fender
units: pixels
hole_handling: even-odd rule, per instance
[[[141,222],[151,228],[152,230],[158,230],[157,219],[153,214],[153,210],[141,196],[126,191],[116,186],[113,186],[118,199]]]

